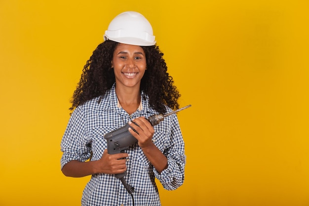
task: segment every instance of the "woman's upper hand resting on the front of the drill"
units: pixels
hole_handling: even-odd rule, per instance
[[[142,149],[153,146],[154,127],[145,117],[136,118],[129,122],[129,125],[135,129],[136,132],[131,128],[129,128],[129,131],[138,140],[138,145]]]

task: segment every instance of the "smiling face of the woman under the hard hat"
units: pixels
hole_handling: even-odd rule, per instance
[[[146,70],[146,56],[142,47],[118,43],[113,54],[116,85],[140,88]]]

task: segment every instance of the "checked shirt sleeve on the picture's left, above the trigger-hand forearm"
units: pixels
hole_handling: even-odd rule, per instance
[[[73,112],[61,140],[61,169],[72,160],[84,162],[90,158],[91,148],[86,140],[85,115],[81,107]]]

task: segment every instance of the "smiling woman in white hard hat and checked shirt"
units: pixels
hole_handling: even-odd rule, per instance
[[[83,206],[159,206],[154,178],[167,190],[183,184],[184,141],[176,115],[154,127],[145,117],[178,109],[180,94],[143,15],[119,14],[104,39],[84,66],[74,92],[74,112],[61,142],[62,172],[92,175]],[[128,122],[138,142],[125,153],[108,154],[104,135]],[[123,172],[135,188],[134,199],[115,177]]]

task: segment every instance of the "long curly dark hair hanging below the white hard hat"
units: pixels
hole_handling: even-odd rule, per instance
[[[115,83],[114,70],[111,68],[113,53],[118,42],[107,40],[100,43],[83,68],[81,78],[74,91],[70,110],[86,101],[103,96]],[[173,78],[167,73],[163,53],[157,45],[141,46],[146,55],[147,70],[141,80],[140,90],[149,97],[149,106],[158,113],[165,113],[164,105],[179,109],[179,91],[173,85]],[[143,98],[146,98],[145,96]]]

